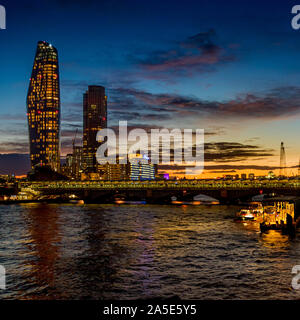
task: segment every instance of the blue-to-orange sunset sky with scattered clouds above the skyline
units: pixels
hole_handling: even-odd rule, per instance
[[[288,173],[297,174],[294,1],[0,3],[7,11],[7,30],[0,30],[0,174],[29,169],[26,94],[39,40],[59,53],[63,155],[82,129],[84,91],[103,85],[109,126],[128,120],[133,127],[205,129],[201,177],[278,173],[281,141]]]

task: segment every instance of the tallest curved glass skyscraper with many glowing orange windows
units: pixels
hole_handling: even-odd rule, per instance
[[[31,167],[60,169],[60,89],[56,48],[39,41],[27,94]]]

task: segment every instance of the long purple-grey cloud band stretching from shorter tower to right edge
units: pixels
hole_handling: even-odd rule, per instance
[[[277,87],[257,94],[240,94],[228,101],[208,101],[194,96],[118,88],[112,93],[112,104],[109,108],[113,111],[126,108],[128,117],[131,112],[137,110],[141,112],[151,110],[153,116],[154,114],[162,115],[162,120],[167,119],[168,114],[172,119],[196,117],[214,120],[218,118],[225,120],[279,119],[299,114],[300,87]]]

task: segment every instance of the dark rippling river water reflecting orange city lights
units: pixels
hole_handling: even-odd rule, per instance
[[[300,237],[235,206],[0,206],[1,299],[299,299]]]

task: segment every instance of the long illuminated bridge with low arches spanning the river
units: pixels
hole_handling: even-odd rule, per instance
[[[172,197],[191,201],[199,194],[221,203],[248,200],[258,194],[300,196],[300,180],[169,180],[169,181],[51,181],[22,182],[19,190],[32,190],[42,196],[75,195],[86,202],[112,202],[115,199],[167,203]]]

